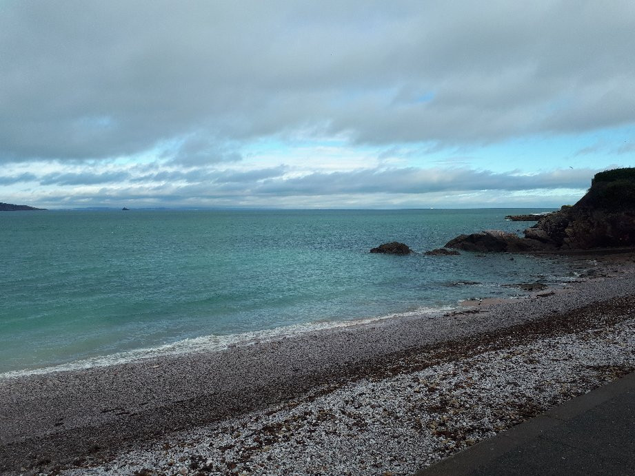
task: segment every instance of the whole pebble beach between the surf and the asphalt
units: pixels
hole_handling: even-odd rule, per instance
[[[1,380],[0,469],[412,474],[633,371],[632,260],[441,316]]]

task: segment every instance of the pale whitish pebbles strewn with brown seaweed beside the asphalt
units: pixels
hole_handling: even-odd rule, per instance
[[[516,311],[526,311],[529,320],[554,312],[558,303],[574,307],[576,301],[632,292],[632,284],[623,284],[623,291],[599,282],[581,286],[589,288],[593,296],[550,296],[521,302]],[[485,346],[422,370],[404,360],[401,371],[321,386],[287,404],[179,431],[122,453],[109,465],[123,475],[142,468],[177,475],[174,460],[188,464],[199,458],[214,468],[205,470],[209,474],[408,475],[635,369],[635,315],[575,333],[518,338],[513,346]],[[105,468],[61,474],[105,475]]]

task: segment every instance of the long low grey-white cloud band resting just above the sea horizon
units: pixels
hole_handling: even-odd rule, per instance
[[[353,172],[310,174],[299,178],[278,176],[283,169],[263,169],[249,180],[230,173],[216,174],[214,180],[189,183],[105,184],[92,194],[69,190],[66,193],[43,192],[37,202],[55,206],[114,206],[137,203],[143,206],[285,206],[400,207],[417,203],[441,203],[460,206],[557,206],[561,196],[569,203],[578,198],[598,172],[592,169],[561,169],[534,175],[517,172],[494,173],[468,168],[364,169]],[[221,178],[221,176],[224,176]],[[270,178],[265,178],[270,176]],[[570,192],[558,192],[565,189]],[[544,190],[550,190],[545,196]],[[536,192],[538,191],[538,192]],[[572,192],[573,191],[573,192]],[[578,192],[576,192],[578,191]],[[518,192],[521,192],[520,194]],[[450,196],[450,198],[448,197]],[[478,196],[478,203],[469,197]],[[468,198],[466,198],[468,197]],[[550,198],[551,197],[551,198]],[[361,201],[360,201],[361,200]],[[563,203],[565,203],[563,202]],[[561,205],[561,203],[559,204]]]

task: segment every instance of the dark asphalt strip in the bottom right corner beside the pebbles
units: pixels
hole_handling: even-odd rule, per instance
[[[416,476],[635,475],[635,373]]]

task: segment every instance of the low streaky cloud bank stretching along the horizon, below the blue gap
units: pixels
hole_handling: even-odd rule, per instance
[[[476,206],[479,203],[536,206],[536,197],[544,199],[545,194],[552,195],[554,189],[566,190],[568,195],[565,196],[576,201],[596,172],[590,169],[558,169],[523,174],[518,171],[495,173],[467,167],[401,167],[312,172],[299,176],[285,166],[246,172],[236,169],[183,172],[162,167],[149,172],[144,169],[129,167],[119,172],[48,173],[42,176],[21,174],[4,180],[6,183],[37,183],[41,188],[34,198],[38,203],[53,207],[74,200],[74,203],[83,205],[111,206],[125,203],[139,206],[342,208],[359,207],[365,203],[371,207],[394,208],[442,202],[450,206]],[[533,203],[521,196],[510,202],[510,196],[527,190],[534,191]],[[465,196],[478,196],[481,201],[474,203],[472,200],[470,203]]]

